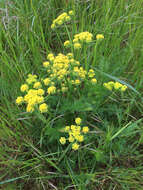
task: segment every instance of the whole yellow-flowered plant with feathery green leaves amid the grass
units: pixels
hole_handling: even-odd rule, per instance
[[[53,21],[51,28],[56,30],[57,26],[66,25],[66,22],[72,19],[73,14],[74,12],[72,10],[68,13],[62,13]],[[58,54],[50,52],[47,55],[47,59],[41,64],[43,67],[42,70],[44,70],[43,77],[40,78],[36,74],[28,74],[25,82],[20,87],[21,94],[17,97],[16,104],[24,104],[26,112],[32,114],[38,112],[45,119],[50,115],[51,120],[53,120],[56,113],[63,113],[61,107],[65,102],[78,101],[81,97],[84,97],[85,102],[88,101],[94,109],[97,107],[96,99],[99,100],[100,98],[103,103],[104,101],[106,102],[108,96],[113,92],[126,91],[127,86],[119,82],[109,81],[101,83],[96,77],[93,64],[88,64],[86,61],[83,62],[83,60],[81,61],[76,58],[75,54],[78,49],[82,49],[83,46],[88,47],[89,44],[95,46],[96,41],[99,42],[102,40],[104,40],[102,34],[97,34],[94,40],[94,35],[89,31],[74,34],[73,39],[67,39],[63,43],[63,47],[65,47],[64,52],[67,51],[66,54],[63,52],[59,52]],[[94,55],[92,56],[94,60]],[[61,99],[62,101],[59,101]],[[59,102],[60,104],[57,108],[55,105]],[[83,112],[84,109],[80,111]],[[64,129],[64,124],[61,125],[61,129],[63,130],[59,130],[61,137],[57,139],[64,146],[68,143],[71,144],[73,150],[78,150],[84,140],[86,138],[88,139],[89,131],[92,131],[90,127],[86,126],[86,122],[85,126],[81,125],[80,111],[78,108],[74,111],[73,117],[76,118],[75,124],[72,123],[74,118],[71,118],[71,123],[68,123],[68,126],[65,126]],[[92,110],[90,111],[92,112]],[[52,114],[53,116],[51,116]],[[86,114],[86,111],[84,114]],[[88,116],[88,112],[86,116]],[[66,113],[63,117],[65,117],[64,120],[67,123],[68,118],[66,118]],[[56,129],[56,122],[51,127]],[[62,133],[65,136],[62,136]]]

